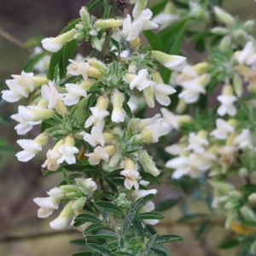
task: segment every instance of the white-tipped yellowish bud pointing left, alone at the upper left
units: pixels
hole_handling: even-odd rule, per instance
[[[73,39],[75,33],[75,30],[70,30],[56,38],[44,38],[42,40],[43,48],[49,50],[50,52],[57,52],[63,47],[64,44],[67,43],[67,41]]]

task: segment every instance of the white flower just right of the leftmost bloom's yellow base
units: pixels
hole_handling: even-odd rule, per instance
[[[58,90],[55,87],[55,84],[52,81],[49,81],[49,84],[44,84],[41,87],[41,94],[44,97],[44,100],[49,102],[48,108],[52,109],[55,107],[57,100],[61,99],[61,96]]]

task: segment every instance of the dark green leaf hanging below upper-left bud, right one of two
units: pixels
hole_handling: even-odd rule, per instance
[[[76,39],[73,39],[71,41],[68,41],[63,46],[61,61],[59,63],[59,69],[60,69],[60,79],[64,79],[67,73],[67,65],[69,64],[69,59],[73,57],[73,54],[78,46],[78,41]]]

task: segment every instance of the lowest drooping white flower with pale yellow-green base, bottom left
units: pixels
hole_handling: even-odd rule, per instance
[[[61,211],[61,214],[59,215],[59,217],[55,218],[55,220],[49,223],[50,227],[53,230],[64,229],[67,226],[67,223],[71,221],[73,217],[72,205],[73,205],[73,201],[69,201],[67,203],[67,206],[64,207],[64,209]]]

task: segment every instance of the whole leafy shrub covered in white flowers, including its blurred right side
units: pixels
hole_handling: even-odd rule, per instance
[[[220,248],[239,246],[239,255],[254,255],[253,20],[234,18],[218,0],[163,0],[151,9],[147,2],[91,1],[6,81],[6,102],[30,97],[30,105],[11,115],[17,133],[40,125],[38,137],[17,141],[23,149],[17,159],[32,160],[50,139],[42,172],[64,177],[48,197],[34,199],[38,218],[61,207],[49,225],[83,232],[87,250],[73,255],[168,255],[161,244],[182,238],[148,226],[164,218],[152,202],[161,172],[187,198],[207,203],[207,214],[184,211],[180,219],[203,218],[197,239],[218,214],[237,234]],[[100,5],[96,18],[91,12]],[[197,24],[203,29],[195,31]],[[205,60],[186,62],[187,36],[197,51],[207,50]],[[94,50],[74,59],[84,44]],[[161,114],[146,118],[147,108]],[[159,142],[165,151],[148,147]],[[239,187],[230,180],[234,175]],[[158,209],[173,205],[162,201]]]

